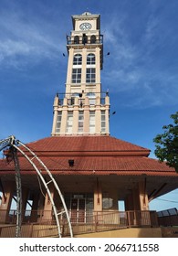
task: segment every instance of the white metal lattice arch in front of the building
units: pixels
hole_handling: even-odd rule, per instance
[[[19,148],[18,145],[20,145],[21,148]],[[56,219],[56,222],[57,222],[57,226],[58,226],[58,236],[59,236],[59,238],[61,238],[62,235],[61,235],[61,229],[60,229],[60,223],[59,223],[59,220],[58,220],[58,216],[63,214],[63,213],[65,213],[66,216],[67,216],[69,233],[70,233],[70,237],[72,238],[73,237],[73,232],[72,232],[72,227],[71,227],[71,223],[70,223],[70,219],[69,219],[69,215],[68,215],[68,208],[66,206],[64,197],[62,196],[62,193],[61,193],[61,191],[58,187],[58,184],[57,184],[55,178],[50,173],[50,171],[47,169],[47,166],[39,159],[39,157],[29,147],[26,146],[26,144],[23,144],[19,140],[16,140],[15,136],[9,136],[5,140],[0,141],[0,151],[2,149],[4,149],[5,147],[7,147],[7,146],[10,146],[10,151],[12,153],[12,157],[13,157],[14,164],[15,164],[15,170],[16,170],[16,237],[20,237],[20,235],[21,235],[21,222],[22,222],[21,221],[21,212],[22,212],[21,176],[20,176],[20,167],[19,167],[19,163],[18,163],[18,158],[17,158],[17,154],[16,154],[17,151],[19,151],[22,155],[24,155],[26,157],[26,160],[34,167],[34,169],[37,172],[37,175],[39,176],[43,185],[47,189],[47,195],[48,195],[49,200],[51,202],[51,205],[52,205],[52,208],[53,208],[53,211],[54,211],[54,215],[55,215],[55,219]],[[22,150],[22,148],[25,148],[27,150],[27,152],[32,155],[32,158],[30,158],[28,155],[26,155],[26,153]],[[47,175],[49,176],[49,181],[46,181],[45,178],[42,176],[42,174],[41,174],[42,171],[37,168],[37,165],[34,163],[34,159],[36,159],[38,164],[40,164],[44,168]],[[50,183],[53,183],[54,187],[58,191],[58,196],[60,197],[63,208],[64,208],[64,210],[61,211],[61,212],[58,212],[58,209],[55,206],[55,202],[53,200],[53,197],[51,196],[50,190],[48,188],[48,185]]]

